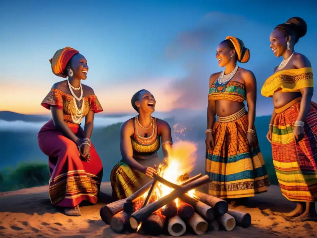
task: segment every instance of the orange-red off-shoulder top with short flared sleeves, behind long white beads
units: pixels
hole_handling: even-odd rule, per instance
[[[83,117],[88,114],[89,110],[93,110],[95,113],[103,111],[96,95],[83,97],[82,101],[85,103]],[[41,105],[46,109],[50,109],[51,106],[63,109],[64,121],[74,124],[72,115],[75,115],[75,105],[72,95],[64,93],[58,89],[51,89],[48,95],[42,101]]]

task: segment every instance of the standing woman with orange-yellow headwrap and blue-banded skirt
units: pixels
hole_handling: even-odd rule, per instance
[[[266,192],[269,180],[254,127],[256,79],[251,71],[237,65],[237,61],[249,61],[250,51],[240,39],[227,36],[219,44],[216,58],[225,69],[209,79],[206,130],[206,174],[212,180],[209,193],[220,198],[251,197]]]

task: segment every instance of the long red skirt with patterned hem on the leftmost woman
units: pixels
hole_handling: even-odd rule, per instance
[[[79,125],[67,123],[78,136]],[[82,161],[76,144],[57,130],[52,120],[38,134],[42,152],[49,156],[49,198],[52,205],[75,207],[82,201],[97,203],[103,168],[101,160],[91,144],[90,162]]]

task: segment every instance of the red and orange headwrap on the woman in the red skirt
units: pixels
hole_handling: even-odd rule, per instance
[[[64,74],[64,71],[66,69],[67,63],[70,60],[70,58],[73,57],[74,54],[77,54],[77,53],[79,53],[78,50],[75,50],[68,46],[63,49],[57,50],[53,58],[49,60],[49,62],[52,65],[53,74],[66,78],[67,75]]]

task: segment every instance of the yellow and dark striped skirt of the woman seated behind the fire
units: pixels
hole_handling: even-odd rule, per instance
[[[162,162],[157,153],[143,158],[136,158],[135,160],[143,166],[152,168],[154,164],[158,166]],[[120,160],[113,167],[110,175],[112,197],[115,200],[127,198],[151,180],[153,179],[132,169],[126,162]]]

